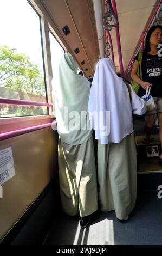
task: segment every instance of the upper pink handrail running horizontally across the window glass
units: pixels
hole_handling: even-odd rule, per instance
[[[28,100],[15,100],[15,99],[7,99],[0,97],[0,104],[7,105],[21,105],[21,106],[44,106],[44,107],[53,107],[53,104],[46,102],[38,102],[38,101],[28,101]]]

